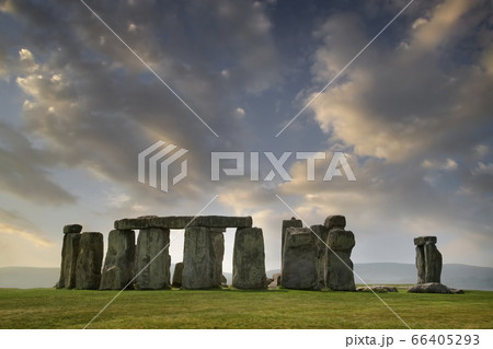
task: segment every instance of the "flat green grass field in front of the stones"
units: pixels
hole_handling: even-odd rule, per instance
[[[0,289],[0,328],[83,328],[117,291]],[[493,292],[379,293],[411,328],[493,328]],[[372,293],[125,291],[88,328],[405,328]]]

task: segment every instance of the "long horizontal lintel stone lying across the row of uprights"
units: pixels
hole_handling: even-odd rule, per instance
[[[135,219],[122,219],[115,221],[115,229],[185,229],[188,226],[207,228],[249,228],[252,226],[251,217],[225,217],[225,216],[170,216],[170,217],[141,217]]]

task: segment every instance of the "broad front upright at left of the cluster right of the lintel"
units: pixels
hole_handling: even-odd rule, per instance
[[[318,289],[316,235],[308,228],[288,228],[286,233],[280,284],[296,290]]]

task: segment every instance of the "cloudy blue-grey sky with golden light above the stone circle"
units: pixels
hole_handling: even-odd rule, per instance
[[[66,224],[107,237],[117,219],[200,211],[252,216],[267,269],[283,220],[330,214],[354,263],[414,263],[413,237],[435,235],[444,263],[493,267],[492,14],[486,0],[0,0],[0,267],[58,267]],[[159,140],[188,151],[168,193],[137,178]],[[226,161],[211,181],[213,152],[243,152],[245,174]],[[265,154],[285,152],[291,181]],[[356,181],[341,163],[323,181],[334,152]]]

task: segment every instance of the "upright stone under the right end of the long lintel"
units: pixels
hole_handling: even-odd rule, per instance
[[[232,286],[237,289],[265,289],[264,234],[260,228],[237,229],[233,248]]]

